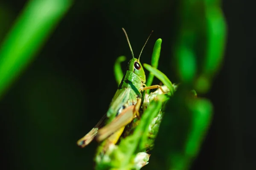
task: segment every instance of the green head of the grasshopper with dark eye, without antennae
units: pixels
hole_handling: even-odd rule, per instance
[[[133,72],[138,77],[140,77],[142,83],[146,82],[145,72],[144,72],[144,69],[143,69],[139,59],[137,59],[137,58],[131,59],[128,62],[127,70]]]

